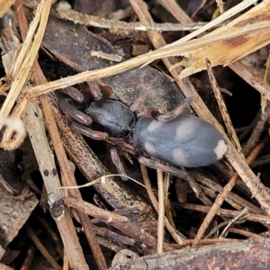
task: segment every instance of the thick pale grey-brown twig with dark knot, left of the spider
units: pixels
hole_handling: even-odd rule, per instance
[[[23,3],[18,1],[16,5],[18,17],[20,18],[19,27],[23,35],[22,38],[23,40],[25,40],[26,38],[25,34],[28,29],[28,23],[22,8]],[[38,65],[36,59],[33,62],[33,67],[36,70],[35,76],[33,77],[35,83],[37,85],[44,83],[44,76],[40,70],[40,66]],[[45,116],[48,116],[48,111],[46,109],[44,110],[44,112]],[[87,266],[85,263],[85,257],[83,255],[81,247],[79,246],[78,239],[76,238],[76,230],[74,226],[72,226],[73,223],[69,211],[67,210],[67,208],[66,209],[61,208],[61,206],[59,205],[60,211],[57,212],[56,216],[54,215],[53,212],[54,206],[56,205],[57,202],[60,202],[60,198],[63,196],[63,193],[58,191],[58,187],[60,186],[58,174],[49,148],[49,143],[46,138],[44,130],[44,122],[42,119],[42,112],[40,111],[38,104],[29,103],[23,113],[24,113],[23,119],[25,121],[26,126],[28,127],[28,132],[30,134],[31,144],[35,151],[37,160],[39,161],[40,172],[43,176],[47,193],[49,193],[49,207],[51,215],[58,224],[58,229],[61,234],[61,238],[67,250],[67,257],[69,260],[69,264],[72,267],[77,266],[79,268],[86,269]],[[37,127],[40,128],[38,130],[35,130]],[[42,147],[40,148],[40,146]]]

